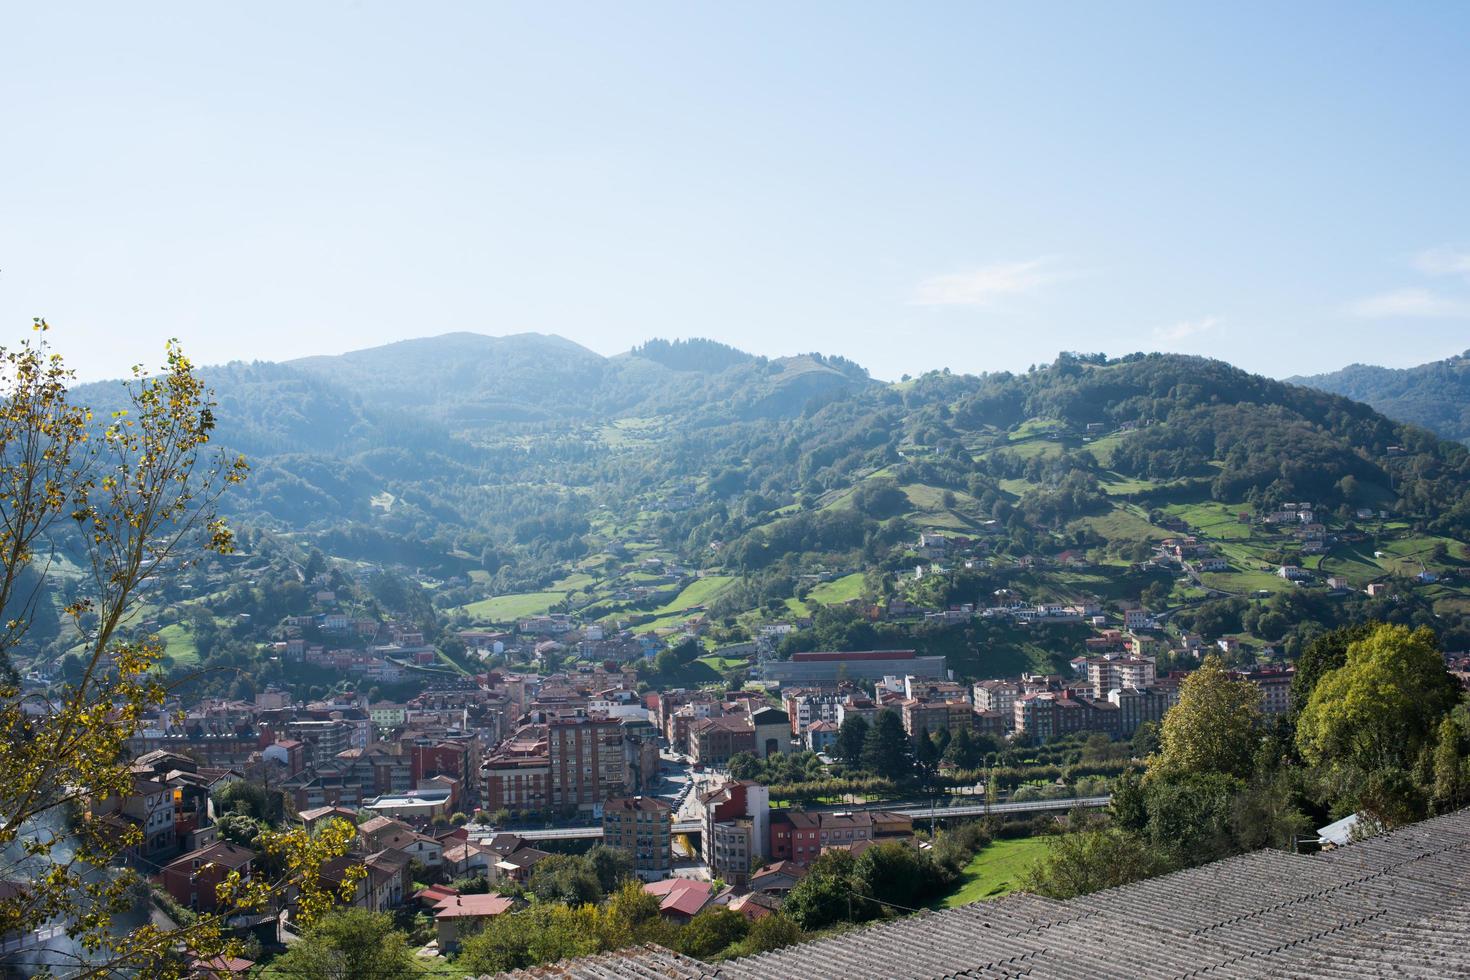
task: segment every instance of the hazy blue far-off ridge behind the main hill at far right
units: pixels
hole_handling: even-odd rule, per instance
[[[1349,364],[1288,381],[1370,404],[1391,419],[1470,445],[1470,351],[1419,367]]]

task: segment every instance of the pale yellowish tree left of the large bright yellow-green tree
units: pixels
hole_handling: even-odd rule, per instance
[[[1261,693],[1236,680],[1214,654],[1179,685],[1179,704],[1164,716],[1150,779],[1192,773],[1247,776],[1255,755]]]

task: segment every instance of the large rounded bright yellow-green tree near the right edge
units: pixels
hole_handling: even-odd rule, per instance
[[[1316,765],[1410,768],[1457,696],[1430,630],[1380,624],[1317,683],[1297,723],[1297,746]]]

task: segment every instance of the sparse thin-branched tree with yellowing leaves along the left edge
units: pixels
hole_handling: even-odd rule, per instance
[[[219,914],[173,932],[109,929],[134,907],[140,882],[118,858],[141,833],[119,833],[107,821],[132,789],[126,739],[169,693],[156,673],[162,642],[123,636],[121,627],[144,582],[232,551],[218,502],[248,467],[241,457],[207,454],[215,404],[176,344],[166,347],[157,375],[134,369],[125,410],[94,422],[71,401],[72,373],[47,345],[47,325],[37,320],[35,331],[37,339],[0,350],[0,851],[12,855],[0,877],[19,883],[0,898],[0,934],[63,921],[79,952],[59,973],[148,976],[165,971],[178,946],[203,956],[238,949],[226,942],[223,918],[290,883],[232,876]],[[85,572],[75,588],[56,589],[81,649],[57,691],[22,691],[6,667],[38,621],[37,601],[50,591],[51,555],[62,547]],[[47,588],[22,595],[28,582]],[[257,837],[295,879],[303,924],[326,898],[313,870],[348,843],[337,832]]]

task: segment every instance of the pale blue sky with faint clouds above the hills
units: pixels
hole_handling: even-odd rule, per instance
[[[1470,348],[1466,3],[0,0],[0,342]],[[491,379],[488,379],[490,382]]]

